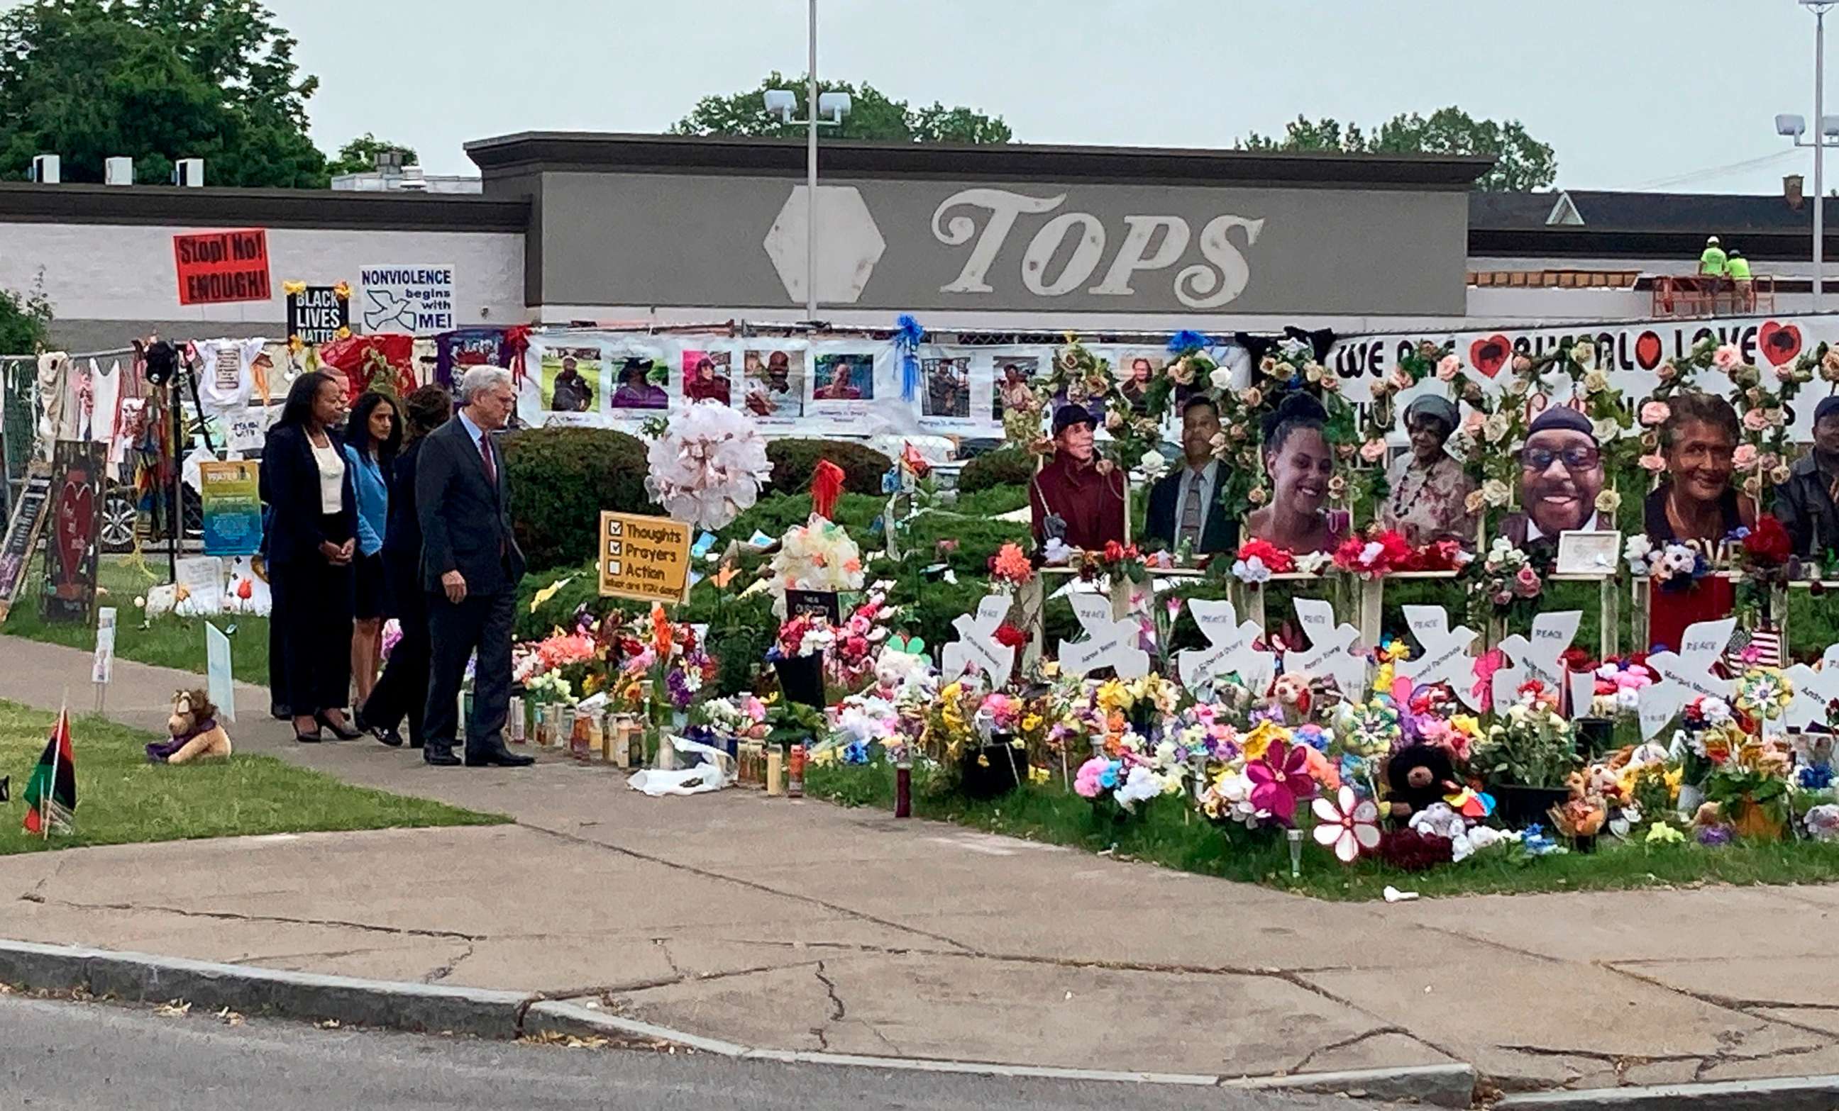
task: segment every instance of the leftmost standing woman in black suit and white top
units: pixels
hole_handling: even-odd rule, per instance
[[[287,391],[281,419],[261,454],[268,499],[270,623],[281,630],[281,674],[294,740],[362,736],[344,720],[351,689],[351,558],[357,498],[344,444],[344,384],[311,371]]]

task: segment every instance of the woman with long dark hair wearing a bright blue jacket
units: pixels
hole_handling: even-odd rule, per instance
[[[357,701],[362,707],[370,689],[377,685],[377,667],[383,657],[383,615],[388,606],[388,586],[383,575],[383,536],[390,522],[390,472],[395,450],[403,443],[403,421],[395,398],[370,391],[351,406],[346,422],[346,463],[351,465],[351,485],[357,492],[357,600],[351,608],[351,674],[357,679]]]

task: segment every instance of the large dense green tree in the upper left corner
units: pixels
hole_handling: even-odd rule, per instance
[[[217,185],[324,187],[292,48],[254,0],[22,4],[0,17],[0,176],[50,152],[97,182],[129,154],[143,182],[204,158]]]

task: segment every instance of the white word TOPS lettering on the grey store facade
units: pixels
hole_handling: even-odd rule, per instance
[[[965,259],[958,277],[951,285],[940,286],[940,292],[995,292],[988,281],[989,266],[1002,252],[1010,231],[1015,230],[1015,219],[1024,213],[1046,215],[1065,202],[1065,193],[1059,196],[1026,196],[1022,193],[1010,193],[1008,189],[962,189],[947,196],[932,211],[932,237],[945,246],[964,246],[973,239],[977,244],[971,248],[971,257]],[[977,220],[967,215],[956,215],[940,224],[940,219],[949,209],[960,206],[988,209],[989,219],[984,222],[982,233],[977,230]],[[1245,253],[1227,239],[1227,233],[1234,228],[1243,230],[1245,246],[1249,248],[1258,242],[1263,224],[1263,220],[1234,215],[1219,215],[1208,220],[1201,228],[1197,244],[1205,261],[1182,266],[1175,274],[1175,297],[1188,309],[1219,309],[1245,292],[1252,270],[1245,261]],[[1160,241],[1157,241],[1157,231],[1162,233]],[[1050,279],[1048,264],[1061,244],[1067,242],[1068,233],[1078,235],[1072,255],[1059,268],[1059,274]],[[1137,292],[1131,288],[1133,274],[1173,266],[1188,253],[1190,241],[1194,241],[1194,230],[1181,217],[1124,217],[1124,242],[1111,257],[1111,266],[1105,268],[1103,281],[1087,292],[1114,297],[1133,296]],[[1149,250],[1151,242],[1155,242],[1155,250]],[[1103,220],[1092,213],[1061,213],[1041,224],[1034,239],[1028,241],[1028,250],[1022,253],[1022,285],[1028,286],[1028,292],[1041,297],[1070,294],[1092,277],[1103,255]]]

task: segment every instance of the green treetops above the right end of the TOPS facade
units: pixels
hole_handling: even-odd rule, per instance
[[[1342,129],[1337,119],[1298,116],[1282,138],[1252,132],[1239,141],[1245,151],[1339,151],[1346,154],[1488,154],[1493,167],[1477,189],[1547,189],[1558,180],[1552,147],[1526,134],[1517,119],[1475,119],[1462,108],[1440,108],[1429,118],[1394,116],[1366,134],[1359,125]]]

